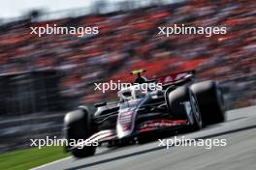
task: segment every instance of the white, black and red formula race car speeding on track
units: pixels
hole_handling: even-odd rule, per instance
[[[114,143],[137,139],[144,133],[187,128],[198,130],[225,120],[225,107],[218,84],[214,81],[193,83],[195,71],[183,71],[147,80],[144,70],[132,71],[135,82],[121,89],[116,102],[95,103],[90,113],[84,105],[66,114],[64,135],[67,140]],[[158,88],[142,88],[144,85]],[[160,88],[159,88],[160,86]],[[146,135],[145,135],[146,136]],[[87,143],[88,144],[88,143]],[[93,156],[96,145],[66,146],[76,157]]]

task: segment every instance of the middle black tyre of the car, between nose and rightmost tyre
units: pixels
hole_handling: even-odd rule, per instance
[[[196,96],[188,87],[178,87],[169,94],[168,104],[174,119],[188,120],[191,131],[202,128],[202,118]]]

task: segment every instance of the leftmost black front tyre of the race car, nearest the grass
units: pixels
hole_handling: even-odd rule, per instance
[[[87,109],[78,109],[66,114],[64,118],[64,135],[68,142],[80,139],[87,139],[93,133],[92,117]],[[69,147],[69,146],[68,146]],[[93,156],[96,146],[84,146],[82,149],[71,150],[73,156],[85,157]]]

